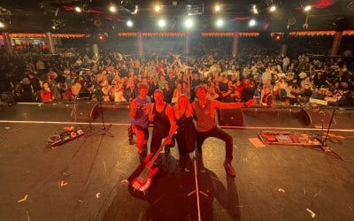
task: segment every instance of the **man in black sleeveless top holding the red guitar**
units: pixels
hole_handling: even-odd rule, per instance
[[[162,139],[166,138],[167,145],[171,144],[174,134],[175,121],[173,109],[170,104],[164,102],[164,93],[157,89],[154,92],[154,100],[150,107],[149,120],[154,124],[152,129],[152,137],[150,142],[150,152],[155,154],[161,145]],[[169,148],[165,147],[165,152],[169,152]]]

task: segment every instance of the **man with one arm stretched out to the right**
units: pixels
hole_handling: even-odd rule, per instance
[[[233,109],[249,107],[254,103],[254,100],[251,99],[246,103],[222,103],[216,100],[209,100],[206,98],[206,89],[204,87],[196,88],[196,97],[198,101],[192,103],[192,107],[196,115],[196,149],[198,156],[202,160],[202,145],[208,137],[215,137],[225,141],[226,159],[224,167],[227,176],[235,178],[235,170],[231,165],[233,159],[233,138],[217,127],[215,111],[217,108]],[[203,164],[201,166],[203,167]],[[201,170],[204,170],[204,168],[201,168]]]

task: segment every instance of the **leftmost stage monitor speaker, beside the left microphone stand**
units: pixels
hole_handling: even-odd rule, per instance
[[[73,110],[74,111],[74,110]],[[74,113],[72,117],[74,118]],[[79,121],[89,121],[98,118],[99,105],[98,103],[79,102],[76,104],[76,119]]]

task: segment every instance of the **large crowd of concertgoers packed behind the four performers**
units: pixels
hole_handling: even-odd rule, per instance
[[[93,58],[61,52],[2,60],[3,100],[5,93],[15,103],[76,98],[129,102],[144,83],[152,100],[153,92],[161,89],[167,103],[176,103],[181,94],[192,102],[195,88],[203,86],[209,99],[226,103],[257,97],[263,106],[302,105],[311,97],[329,104],[354,104],[352,57],[281,57],[279,51],[250,47],[238,57],[186,57],[169,52],[129,56],[109,51]]]

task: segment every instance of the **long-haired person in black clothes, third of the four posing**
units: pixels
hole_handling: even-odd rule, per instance
[[[196,149],[196,126],[193,122],[193,109],[187,95],[180,95],[173,106],[178,126],[176,141],[180,154],[180,168],[189,171],[189,153]]]

